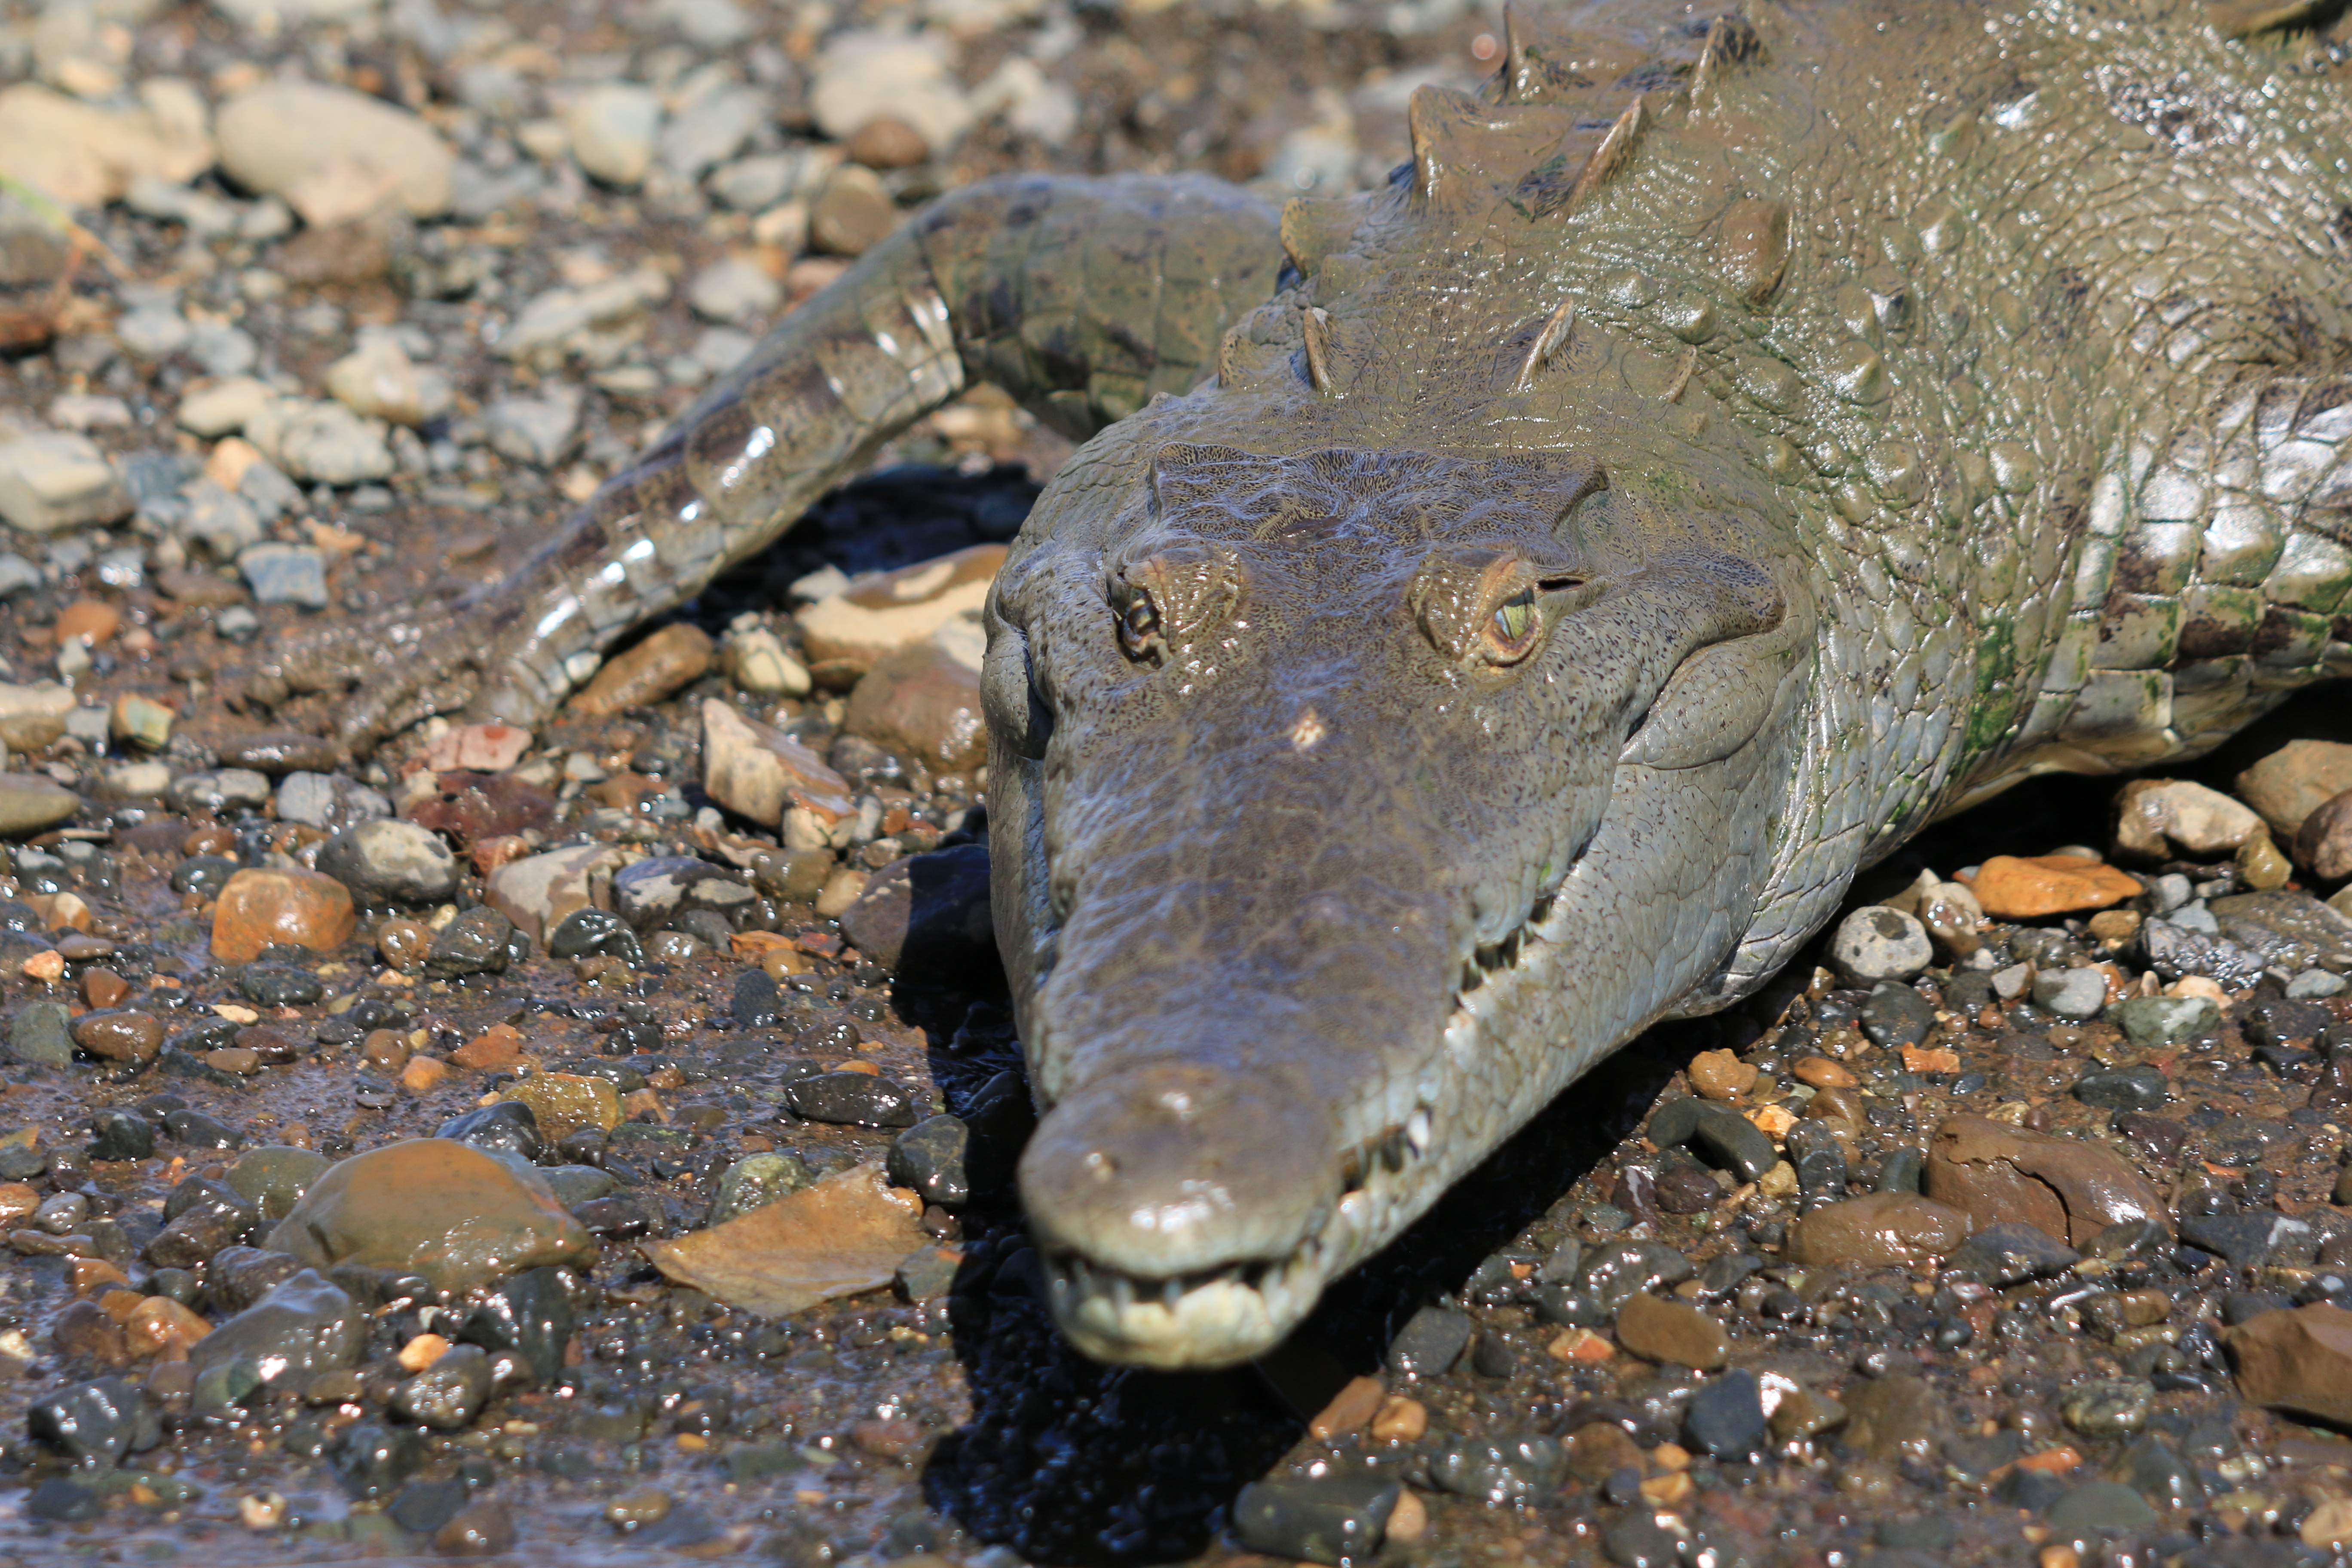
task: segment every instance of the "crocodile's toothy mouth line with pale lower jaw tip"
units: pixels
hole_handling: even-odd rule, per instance
[[[1524,983],[1541,957],[1552,952],[1555,933],[1543,926],[1555,903],[1557,893],[1541,896],[1519,926],[1472,950],[1437,1056],[1475,1041],[1498,990]],[[1458,1079],[1439,1074],[1439,1081]],[[1334,1279],[1392,1241],[1463,1168],[1484,1157],[1479,1140],[1437,1147],[1446,1098],[1423,1091],[1402,1121],[1357,1143],[1345,1159],[1341,1197],[1282,1258],[1148,1276],[1108,1267],[1077,1248],[1042,1246],[1054,1319],[1098,1361],[1197,1371],[1265,1354],[1315,1309]]]

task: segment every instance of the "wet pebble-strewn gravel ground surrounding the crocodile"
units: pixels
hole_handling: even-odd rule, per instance
[[[969,611],[1056,437],[924,421],[539,733],[353,762],[263,675],[508,569],[903,207],[1355,188],[1489,28],[0,5],[7,1561],[2343,1556],[2328,698],[1931,830],[1167,1378],[1061,1347],[1004,1192]]]

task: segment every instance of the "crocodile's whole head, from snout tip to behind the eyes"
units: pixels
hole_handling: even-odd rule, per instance
[[[1272,1347],[1724,969],[1811,665],[1738,517],[1583,456],[1065,473],[988,630],[1021,1197],[1148,1366]]]

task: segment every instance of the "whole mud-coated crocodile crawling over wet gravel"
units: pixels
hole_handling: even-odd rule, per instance
[[[988,381],[1087,437],[985,607],[1058,1324],[1277,1345],[1578,1074],[2039,771],[2352,670],[2352,143],[2307,7],[1512,9],[1376,190],[953,193],[360,675],[534,722]]]

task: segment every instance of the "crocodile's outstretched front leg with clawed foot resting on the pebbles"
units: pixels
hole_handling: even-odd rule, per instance
[[[1272,207],[1218,181],[1002,179],[943,197],[788,315],[508,578],[445,616],[292,649],[358,682],[353,752],[428,715],[536,724],[633,625],[764,550],[971,381],[1091,435],[1190,388],[1282,266]]]

